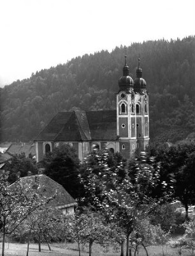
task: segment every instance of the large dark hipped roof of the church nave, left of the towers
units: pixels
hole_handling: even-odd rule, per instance
[[[116,140],[117,111],[59,112],[36,141]]]

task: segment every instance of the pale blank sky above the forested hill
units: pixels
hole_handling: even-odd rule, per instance
[[[0,86],[102,49],[195,35],[195,0],[0,0]]]

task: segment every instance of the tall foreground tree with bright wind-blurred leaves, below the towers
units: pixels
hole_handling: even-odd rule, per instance
[[[98,152],[96,153],[98,154]],[[126,255],[129,256],[129,237],[136,230],[136,221],[146,218],[157,205],[168,198],[166,182],[161,182],[164,194],[161,198],[152,197],[152,188],[159,185],[159,168],[153,164],[146,164],[144,157],[138,164],[134,181],[129,177],[129,171],[122,164],[112,169],[108,167],[108,152],[99,157],[101,172],[94,173],[87,168],[87,177],[81,181],[90,196],[91,204],[98,210],[105,212],[108,221],[115,220],[126,234]],[[123,168],[124,179],[119,179],[120,169]]]

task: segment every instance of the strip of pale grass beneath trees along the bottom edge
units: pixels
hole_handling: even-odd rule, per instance
[[[1,244],[2,246],[2,244]],[[1,248],[0,246],[0,248]],[[81,246],[81,255],[89,255],[88,247]],[[41,244],[41,252],[38,252],[38,244],[31,244],[29,250],[29,256],[78,256],[78,247],[76,243],[55,243],[51,244],[52,252],[49,251],[46,244]],[[148,255],[161,256],[163,255],[162,246],[148,246]],[[27,244],[20,243],[6,243],[5,255],[6,256],[24,256],[26,255]],[[108,252],[104,252],[104,249],[98,244],[92,246],[92,256],[119,256],[119,252],[114,252],[110,247]],[[126,255],[126,254],[124,254]],[[134,253],[133,253],[134,255]],[[145,256],[145,251],[140,248],[139,256]],[[178,256],[177,248],[171,248],[170,246],[164,246],[164,255]],[[182,251],[182,256],[191,255],[187,250]]]

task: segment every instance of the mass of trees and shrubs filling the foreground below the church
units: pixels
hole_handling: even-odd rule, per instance
[[[149,248],[157,249],[159,244],[161,253],[166,253],[169,244],[175,248],[169,247],[173,252],[194,255],[195,220],[188,214],[189,205],[195,202],[194,141],[173,147],[150,145],[148,152],[137,151],[128,163],[120,154],[105,149],[94,150],[85,163],[79,164],[69,145],[56,148],[39,166],[45,166],[47,175],[69,193],[74,191],[78,202],[75,216],[62,216],[61,211],[48,206],[53,198],[38,193],[39,186],[18,180],[20,172],[30,175],[24,172],[24,166],[37,166],[30,158],[19,156],[17,161],[17,157],[6,164],[0,176],[3,256],[6,237],[27,243],[27,256],[31,243],[38,243],[39,252],[41,244],[47,243],[52,252],[50,244],[54,241],[76,243],[79,256],[83,246],[91,256],[97,244],[104,248],[102,255],[109,255],[111,247],[120,256],[148,256],[154,253]],[[31,170],[36,172],[36,168]],[[72,188],[61,177],[68,183],[73,180]],[[14,179],[16,182],[9,186]],[[175,199],[184,203],[185,216],[176,211]],[[178,230],[182,230],[182,236],[171,241]]]

